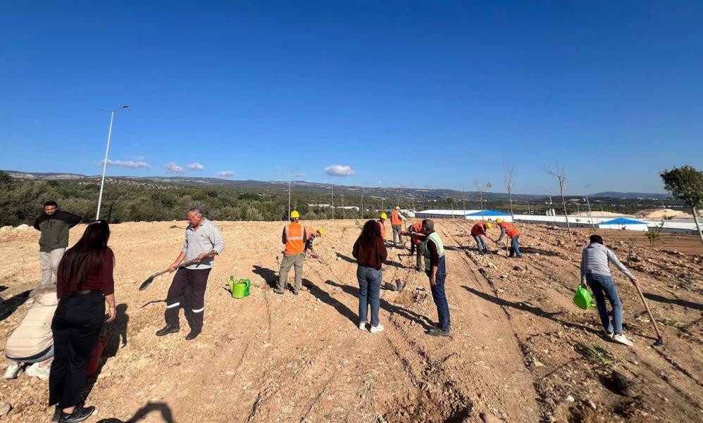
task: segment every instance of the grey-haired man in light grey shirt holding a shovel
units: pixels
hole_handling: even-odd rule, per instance
[[[222,253],[225,242],[219,229],[211,220],[207,220],[201,208],[192,207],[187,213],[188,227],[185,228],[183,248],[169,272],[176,272],[166,296],[166,327],[156,332],[156,336],[175,334],[180,331],[178,308],[180,295],[188,287],[192,289],[190,303],[192,305],[193,322],[187,341],[196,339],[203,329],[203,314],[205,310],[205,289],[208,276],[212,270],[214,256]],[[183,260],[196,259],[196,263],[178,268]],[[178,271],[176,270],[178,268]]]

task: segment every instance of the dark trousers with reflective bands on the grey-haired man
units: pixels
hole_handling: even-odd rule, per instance
[[[205,310],[205,289],[208,284],[208,276],[212,269],[184,269],[180,268],[173,277],[173,282],[166,295],[166,312],[164,318],[166,324],[173,327],[180,327],[178,322],[178,310],[180,309],[180,296],[185,289],[190,286],[192,296],[190,305],[192,306],[191,329],[202,329],[203,314]]]

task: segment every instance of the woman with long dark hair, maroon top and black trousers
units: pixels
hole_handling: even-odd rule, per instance
[[[49,374],[49,405],[57,404],[54,418],[58,417],[59,423],[82,422],[95,410],[82,405],[80,394],[103,324],[117,315],[115,256],[107,246],[109,238],[110,227],[105,220],[91,222],[58,265],[58,308],[51,322],[54,363]]]

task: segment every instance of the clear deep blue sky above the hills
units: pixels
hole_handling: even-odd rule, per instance
[[[504,191],[514,164],[516,192],[553,194],[559,159],[571,194],[661,192],[703,168],[702,22],[702,1],[6,2],[0,168],[96,175],[99,109],[129,104],[108,175]]]

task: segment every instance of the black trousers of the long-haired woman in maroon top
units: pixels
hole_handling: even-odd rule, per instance
[[[93,348],[105,322],[105,297],[100,291],[66,294],[51,321],[54,362],[49,372],[49,405],[78,405]]]

